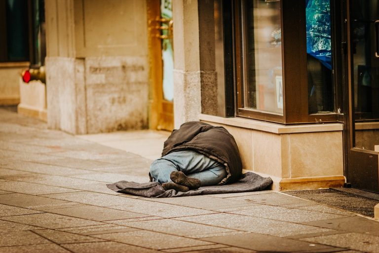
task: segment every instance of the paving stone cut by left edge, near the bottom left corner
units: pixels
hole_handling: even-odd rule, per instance
[[[31,231],[6,232],[0,236],[0,247],[51,243]]]

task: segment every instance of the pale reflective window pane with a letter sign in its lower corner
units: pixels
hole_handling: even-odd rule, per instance
[[[280,0],[248,0],[244,13],[244,107],[283,114]]]

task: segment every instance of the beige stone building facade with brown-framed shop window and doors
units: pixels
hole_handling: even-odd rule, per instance
[[[243,168],[274,189],[379,192],[377,1],[44,7],[49,127],[85,134],[201,120],[226,127]]]

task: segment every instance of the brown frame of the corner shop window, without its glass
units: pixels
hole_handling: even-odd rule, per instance
[[[281,124],[343,122],[341,99],[341,13],[335,11],[336,0],[331,0],[332,48],[333,48],[333,85],[334,112],[308,113],[308,72],[306,54],[305,0],[297,4],[281,0],[282,31],[282,77],[283,77],[283,115],[244,108],[243,84],[243,42],[242,11],[244,0],[233,3],[233,38],[234,38],[234,83],[235,116],[257,119]],[[339,110],[341,109],[341,110]],[[339,113],[337,113],[339,112]]]

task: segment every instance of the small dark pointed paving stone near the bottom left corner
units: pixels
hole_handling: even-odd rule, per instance
[[[39,230],[35,230],[34,232],[42,236],[43,238],[46,238],[56,244],[104,242],[103,239],[99,239],[99,238],[76,235],[73,233],[51,230],[51,229],[39,229]]]

